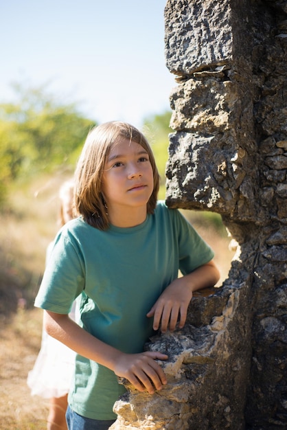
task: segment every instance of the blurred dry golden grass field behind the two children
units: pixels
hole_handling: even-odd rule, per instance
[[[46,247],[58,229],[58,188],[67,175],[41,177],[15,187],[0,223],[0,429],[46,428],[47,400],[30,396],[27,373],[41,345],[42,312],[32,306],[43,275]],[[216,251],[227,278],[233,252],[225,229],[202,214],[190,214],[194,227]],[[218,224],[218,217],[216,218]]]

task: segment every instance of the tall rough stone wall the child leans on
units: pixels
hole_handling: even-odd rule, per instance
[[[168,0],[165,57],[166,201],[218,212],[238,249],[185,328],[147,345],[169,354],[168,385],[126,384],[111,428],[286,429],[287,2]]]

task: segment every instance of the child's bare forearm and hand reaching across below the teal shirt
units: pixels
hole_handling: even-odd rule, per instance
[[[78,326],[69,318],[69,315],[48,310],[44,311],[44,327],[48,335],[58,339],[83,357],[108,367],[117,376],[128,379],[141,392],[146,389],[153,394],[154,388],[161,389],[162,385],[167,383],[161,366],[155,361],[168,358],[161,352],[124,354]]]

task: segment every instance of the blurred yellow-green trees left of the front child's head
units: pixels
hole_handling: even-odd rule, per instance
[[[63,103],[47,86],[14,84],[16,102],[0,104],[0,201],[22,175],[73,163],[95,125],[76,103]]]

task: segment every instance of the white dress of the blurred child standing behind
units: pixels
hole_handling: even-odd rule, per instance
[[[47,249],[47,256],[49,256],[50,250],[51,244]],[[69,317],[76,321],[76,301],[73,302]],[[43,329],[41,350],[33,369],[27,376],[27,385],[31,389],[31,395],[43,398],[65,396],[71,385],[75,358],[76,352],[47,335]]]

